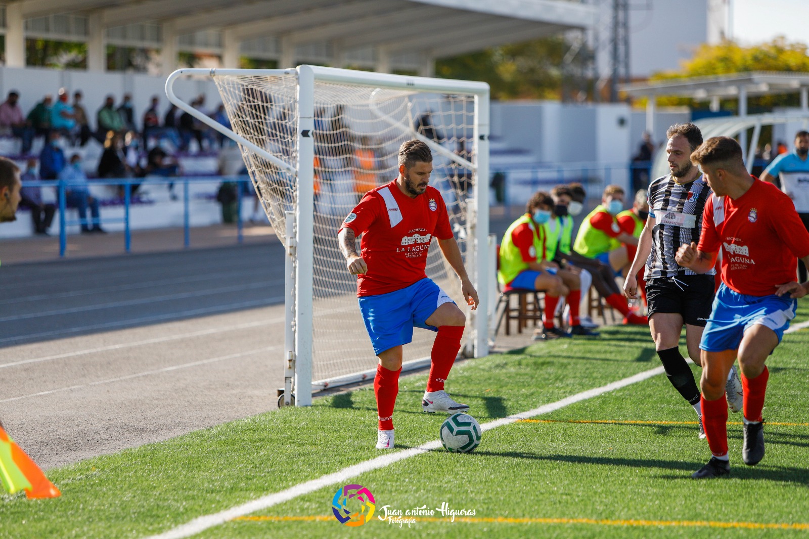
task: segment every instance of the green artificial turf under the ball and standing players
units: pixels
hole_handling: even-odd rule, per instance
[[[794,322],[807,315],[809,301],[804,300]],[[648,329],[602,332],[599,339],[538,343],[460,363],[447,390],[471,405],[470,413],[485,423],[659,366]],[[788,335],[769,359],[764,412],[769,422],[809,422],[807,350],[809,329]],[[698,375],[698,367],[693,370]],[[400,380],[396,448],[438,438],[446,416],[421,412],[425,383],[424,374]],[[688,424],[696,417],[665,376],[654,376],[536,418],[553,422],[517,422],[487,431],[471,454],[427,452],[355,477],[351,482],[366,486],[376,501],[374,519],[364,526],[350,528],[331,516],[332,496],[341,486],[333,485],[254,515],[305,520],[236,520],[199,537],[806,534],[809,530],[630,525],[639,520],[809,523],[809,427],[766,426],[767,455],[748,468],[740,459],[741,427],[730,425],[731,477],[694,482],[690,473],[709,458],[705,440],[697,439],[697,426]],[[730,420],[740,421],[740,414],[731,414]],[[2,496],[0,537],[160,533],[379,456],[373,447],[375,429],[373,389],[362,388],[316,399],[311,408],[260,414],[52,469],[48,475],[61,489],[61,498]],[[474,509],[475,520],[419,520],[399,528],[376,518],[386,505],[404,511],[444,502]],[[493,521],[497,519],[515,521]],[[570,523],[575,519],[631,522]]]

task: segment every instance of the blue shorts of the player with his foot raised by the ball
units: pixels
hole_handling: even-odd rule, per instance
[[[388,294],[360,297],[359,310],[374,353],[379,355],[394,346],[412,342],[413,328],[438,331],[438,328],[427,325],[426,320],[444,303],[456,304],[430,278]]]

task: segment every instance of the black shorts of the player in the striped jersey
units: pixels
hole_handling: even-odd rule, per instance
[[[714,304],[713,275],[683,275],[646,282],[647,315],[676,312],[686,324],[705,327]]]

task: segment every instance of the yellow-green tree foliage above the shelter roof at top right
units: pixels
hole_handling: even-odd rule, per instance
[[[701,45],[690,60],[682,62],[680,70],[665,71],[650,77],[652,81],[667,81],[705,77],[709,75],[746,73],[749,71],[790,71],[809,73],[809,47],[803,43],[790,43],[777,37],[768,43],[743,47],[735,41],[718,45]],[[762,112],[773,107],[796,106],[798,95],[760,95],[748,100],[749,112]],[[683,98],[661,98],[659,104],[706,108],[705,102]],[[722,108],[735,109],[735,100],[722,101]]]

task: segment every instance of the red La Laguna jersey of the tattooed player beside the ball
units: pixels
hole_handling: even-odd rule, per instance
[[[343,221],[342,228],[362,234],[361,256],[368,273],[357,279],[357,295],[401,290],[426,277],[427,251],[433,236],[452,237],[447,206],[434,187],[410,198],[396,181],[368,191]]]

